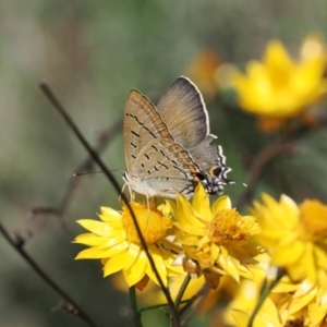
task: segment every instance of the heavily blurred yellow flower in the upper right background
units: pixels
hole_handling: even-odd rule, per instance
[[[326,53],[318,38],[303,43],[299,62],[289,57],[280,41],[272,40],[262,62],[251,61],[246,75],[233,76],[240,106],[264,118],[263,125],[268,119],[278,129],[278,121],[299,116],[326,94],[325,68]]]

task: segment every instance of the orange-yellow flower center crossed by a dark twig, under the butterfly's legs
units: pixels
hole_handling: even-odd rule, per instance
[[[156,207],[149,205],[131,203],[143,238],[147,245],[156,243],[165,237],[166,231],[171,226],[171,218],[166,217]],[[122,223],[126,233],[126,239],[131,243],[141,244],[137,230],[129,208],[124,205],[122,211]]]

